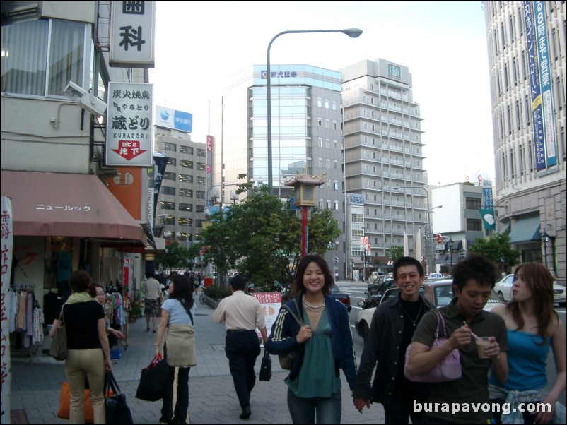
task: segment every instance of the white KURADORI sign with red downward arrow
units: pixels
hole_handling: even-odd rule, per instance
[[[153,167],[153,85],[108,83],[106,164]]]

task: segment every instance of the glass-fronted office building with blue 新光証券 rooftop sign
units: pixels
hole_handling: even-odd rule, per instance
[[[224,186],[221,198],[239,174],[267,184],[267,74],[253,66],[233,78],[223,92],[221,128],[212,145],[213,184]],[[296,173],[324,177],[315,189],[317,206],[333,211],[344,229],[344,192],[341,133],[341,74],[309,65],[271,66],[272,176],[277,196],[291,196],[283,182]],[[343,279],[344,237],[327,252],[333,273]],[[338,261],[335,257],[338,257]]]

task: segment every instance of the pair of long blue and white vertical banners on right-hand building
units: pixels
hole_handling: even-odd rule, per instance
[[[549,49],[543,1],[524,1],[536,169],[557,164]]]

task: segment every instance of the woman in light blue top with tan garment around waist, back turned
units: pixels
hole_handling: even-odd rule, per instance
[[[173,327],[180,327],[191,333],[193,330],[193,314],[194,314],[194,299],[193,299],[193,285],[185,275],[172,275],[171,283],[168,287],[169,298],[163,301],[161,321],[158,326],[158,333],[156,336],[156,344],[154,351],[156,356],[160,353],[160,345],[165,335],[165,328],[169,327],[168,333],[172,333]],[[194,346],[193,346],[194,347]],[[175,365],[172,366],[173,361],[170,363],[168,352],[173,353],[182,351],[186,356],[183,359],[181,366],[177,371],[177,402],[175,409],[173,409],[173,381],[175,378]],[[165,359],[170,364],[170,381],[172,383],[172,391],[169,395],[163,397],[163,405],[161,407],[161,424],[185,424],[187,419],[187,409],[189,409],[189,370],[194,366],[194,352],[186,350],[185,347],[177,347],[175,340],[171,340],[169,335],[165,344]]]

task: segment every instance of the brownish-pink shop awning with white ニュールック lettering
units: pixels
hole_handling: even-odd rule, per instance
[[[141,225],[94,175],[1,172],[12,198],[13,234],[147,244]]]

